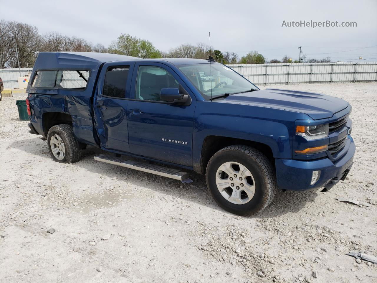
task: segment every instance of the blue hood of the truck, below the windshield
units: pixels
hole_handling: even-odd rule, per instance
[[[232,94],[219,102],[300,112],[309,115],[314,120],[330,118],[348,106],[348,102],[343,99],[325,94],[271,88]]]

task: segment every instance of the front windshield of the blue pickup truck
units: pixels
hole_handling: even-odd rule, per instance
[[[211,65],[211,66],[210,66]],[[258,89],[241,75],[219,63],[181,65],[178,68],[201,92],[204,99]]]

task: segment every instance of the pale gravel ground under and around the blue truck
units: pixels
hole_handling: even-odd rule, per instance
[[[353,106],[357,152],[331,191],[278,191],[256,217],[216,205],[194,183],[93,160],[51,160],[15,101],[0,102],[1,282],[376,282],[377,83],[272,86]],[[354,205],[337,200],[362,201]]]

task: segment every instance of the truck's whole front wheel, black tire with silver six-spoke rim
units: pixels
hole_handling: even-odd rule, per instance
[[[255,148],[233,145],[216,152],[206,170],[208,189],[225,210],[238,215],[263,211],[276,194],[268,158]]]

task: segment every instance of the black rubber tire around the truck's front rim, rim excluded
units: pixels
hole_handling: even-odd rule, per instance
[[[226,162],[237,162],[245,166],[253,175],[255,192],[244,204],[234,204],[220,193],[216,185],[216,174]],[[244,146],[227,146],[216,152],[208,161],[205,172],[207,187],[212,197],[225,210],[238,215],[254,215],[271,204],[277,190],[276,176],[268,158],[259,150]]]

